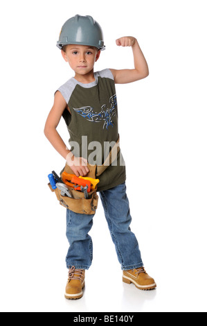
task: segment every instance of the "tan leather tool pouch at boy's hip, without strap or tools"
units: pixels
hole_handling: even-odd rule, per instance
[[[95,179],[96,165],[88,165],[88,168],[90,171],[87,174],[87,177]],[[74,174],[68,164],[66,164],[66,166],[64,167],[64,171],[69,174]],[[96,214],[96,209],[98,207],[98,195],[96,193],[97,188],[91,191],[89,193],[89,199],[86,199],[84,198],[84,193],[82,193],[81,191],[76,191],[72,187],[70,187],[70,191],[73,195],[73,198],[69,198],[67,196],[62,196],[60,189],[53,190],[51,184],[48,184],[48,186],[50,187],[51,191],[55,192],[57,200],[60,201],[60,205],[62,205],[63,207],[66,207],[67,209],[70,209],[71,211],[78,214]]]

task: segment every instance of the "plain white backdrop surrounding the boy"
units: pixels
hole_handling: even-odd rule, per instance
[[[1,311],[206,311],[206,1],[1,1]],[[133,67],[133,35],[150,76],[117,85],[132,230],[156,291],[122,283],[100,204],[84,297],[64,299],[65,211],[47,186],[64,160],[44,137],[55,90],[73,71],[55,44],[75,14],[102,26],[96,70]],[[69,139],[62,121],[58,131]],[[134,151],[136,150],[136,151]]]

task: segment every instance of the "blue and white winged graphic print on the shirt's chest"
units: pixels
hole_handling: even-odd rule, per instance
[[[117,111],[117,101],[116,94],[109,98],[109,103],[111,108],[107,108],[107,105],[104,104],[101,107],[101,111],[99,113],[94,112],[94,109],[91,106],[82,106],[82,108],[73,108],[75,113],[80,114],[84,119],[91,122],[104,122],[103,129],[109,128],[109,126],[114,126],[113,117],[116,116]]]

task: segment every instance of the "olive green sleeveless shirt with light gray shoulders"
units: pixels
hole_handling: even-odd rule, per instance
[[[94,73],[89,84],[69,79],[57,91],[69,105],[62,117],[69,130],[69,144],[76,157],[84,157],[89,164],[102,165],[118,140],[118,108],[114,76],[110,69]],[[126,180],[125,162],[121,151],[117,161],[98,177],[98,191],[120,185]]]

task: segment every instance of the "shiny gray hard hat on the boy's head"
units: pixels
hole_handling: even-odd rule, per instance
[[[62,49],[67,44],[89,45],[105,50],[102,29],[91,16],[76,15],[64,23],[57,47]]]

